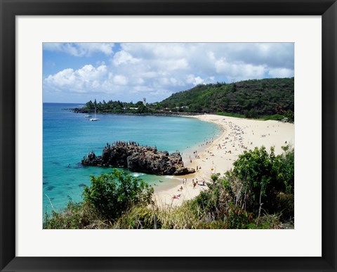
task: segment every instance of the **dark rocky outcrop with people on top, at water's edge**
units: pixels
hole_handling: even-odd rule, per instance
[[[195,169],[184,167],[180,153],[169,154],[157,148],[140,146],[134,142],[117,142],[105,146],[102,155],[89,153],[82,164],[98,167],[120,167],[130,171],[156,175],[185,175]]]

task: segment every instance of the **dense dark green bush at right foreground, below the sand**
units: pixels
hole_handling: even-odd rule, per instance
[[[233,174],[244,184],[251,197],[249,208],[260,216],[261,209],[270,214],[282,212],[293,216],[294,152],[289,146],[275,156],[274,148],[244,151],[233,163]]]

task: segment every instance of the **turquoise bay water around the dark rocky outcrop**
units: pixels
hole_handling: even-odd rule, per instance
[[[157,145],[158,150],[169,153],[179,150],[187,159],[200,143],[220,134],[215,124],[187,117],[98,114],[99,121],[91,122],[84,114],[69,110],[79,106],[81,104],[44,103],[44,212],[52,210],[48,197],[53,207],[60,210],[69,200],[81,200],[83,186],[90,184],[91,174],[110,173],[109,168],[80,164],[91,150],[100,155],[107,142]],[[172,176],[131,174],[140,176],[154,188],[178,182]]]

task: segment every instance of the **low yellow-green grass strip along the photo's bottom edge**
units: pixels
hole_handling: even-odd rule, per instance
[[[119,219],[108,221],[85,202],[70,202],[60,213],[46,214],[44,228],[50,229],[271,229],[282,228],[280,214],[264,214],[259,223],[247,214],[230,209],[225,214],[213,218],[196,200],[188,200],[183,205],[137,205],[124,212]]]

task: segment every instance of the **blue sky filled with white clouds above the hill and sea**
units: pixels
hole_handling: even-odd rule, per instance
[[[154,103],[198,84],[294,76],[293,43],[44,43],[44,102]]]

